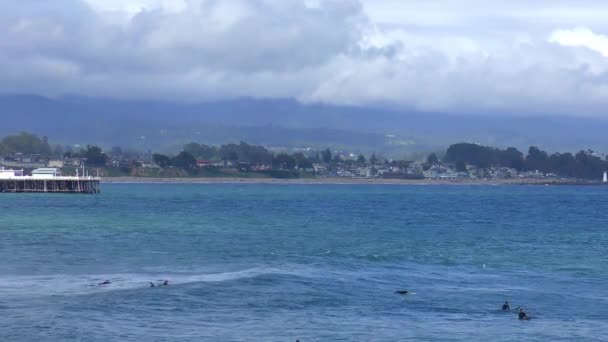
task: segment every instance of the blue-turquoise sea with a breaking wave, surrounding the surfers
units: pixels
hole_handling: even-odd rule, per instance
[[[2,194],[0,336],[606,341],[607,213],[608,187]],[[171,285],[148,287],[162,279]],[[505,300],[533,319],[500,312]]]

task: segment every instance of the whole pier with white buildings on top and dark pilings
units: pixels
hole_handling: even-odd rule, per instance
[[[61,176],[54,168],[34,170],[25,176],[23,170],[0,170],[0,193],[48,192],[73,194],[98,194],[101,178],[91,176]]]

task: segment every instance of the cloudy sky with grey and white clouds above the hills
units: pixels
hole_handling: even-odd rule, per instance
[[[608,117],[603,0],[0,0],[0,92]]]

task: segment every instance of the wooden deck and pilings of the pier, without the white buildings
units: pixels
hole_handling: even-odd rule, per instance
[[[0,179],[2,192],[49,192],[73,194],[98,194],[101,179],[98,177],[52,177],[30,176]]]

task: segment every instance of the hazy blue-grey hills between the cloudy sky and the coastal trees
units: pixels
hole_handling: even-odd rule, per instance
[[[291,99],[237,99],[198,104],[84,97],[0,96],[0,135],[47,135],[64,144],[172,151],[182,144],[247,141],[284,147],[347,148],[403,155],[468,141],[526,150],[605,152],[608,121],[419,113],[371,107],[302,104]]]

